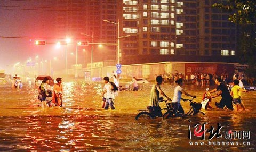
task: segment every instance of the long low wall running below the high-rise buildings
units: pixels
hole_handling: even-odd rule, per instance
[[[165,74],[170,73],[182,73],[189,75],[190,73],[234,73],[234,64],[237,63],[193,63],[193,62],[161,62],[161,63],[150,63],[150,64],[133,64],[133,65],[122,65],[120,77],[123,79],[136,78],[146,78],[148,80],[154,80],[155,74]],[[91,71],[92,70],[92,71]],[[84,78],[85,71],[92,74],[92,77],[111,77],[111,75],[116,74],[116,66],[107,67],[93,67],[77,69],[78,78]],[[67,78],[75,78],[76,69],[68,69]],[[55,75],[61,75],[62,78],[65,77],[65,70],[54,72]],[[59,76],[58,76],[59,77]],[[69,80],[67,79],[67,80]]]

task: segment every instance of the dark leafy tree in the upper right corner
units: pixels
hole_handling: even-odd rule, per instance
[[[212,7],[219,7],[230,12],[228,20],[237,24],[239,29],[237,52],[239,63],[247,64],[246,74],[256,77],[256,1],[227,0],[214,3]]]

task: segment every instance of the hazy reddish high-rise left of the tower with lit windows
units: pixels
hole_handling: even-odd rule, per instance
[[[58,38],[72,39],[73,46],[68,45],[69,52],[75,53],[75,44],[80,40],[89,41],[89,43],[117,43],[117,27],[103,22],[103,20],[116,21],[117,3],[115,0],[57,0],[54,3],[55,35]],[[83,67],[91,62],[91,49],[91,45],[78,46],[78,63],[82,63]],[[100,47],[93,44],[93,62],[116,60],[115,53],[116,45]],[[75,60],[69,63],[75,64]]]

